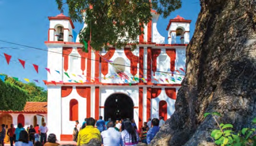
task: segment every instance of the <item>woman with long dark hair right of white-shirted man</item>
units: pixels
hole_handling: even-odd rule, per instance
[[[136,146],[139,142],[139,135],[132,122],[129,120],[123,121],[122,126],[124,130],[121,132],[121,136],[125,146]]]

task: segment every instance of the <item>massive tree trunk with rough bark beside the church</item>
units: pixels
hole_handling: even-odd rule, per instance
[[[213,146],[219,112],[234,131],[256,117],[254,0],[200,0],[195,34],[186,49],[186,76],[175,112],[149,146]]]

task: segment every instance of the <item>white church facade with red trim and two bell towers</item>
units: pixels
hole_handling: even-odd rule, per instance
[[[157,30],[158,14],[152,11],[152,15],[133,52],[127,46],[88,53],[82,51],[79,36],[73,41],[69,17],[49,17],[48,68],[56,70],[45,81],[49,133],[59,140],[72,140],[75,120],[83,123],[85,117],[100,115],[105,120],[134,119],[138,127],[147,118],[171,117],[185,74],[191,21],[180,16],[171,19],[165,38]],[[116,67],[128,78],[120,77],[108,61],[121,64]]]

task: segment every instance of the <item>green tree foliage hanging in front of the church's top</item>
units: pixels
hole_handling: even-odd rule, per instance
[[[80,42],[88,42],[95,50],[108,50],[109,45],[121,49],[129,43],[135,49],[144,23],[151,20],[151,9],[164,18],[181,8],[181,0],[56,0],[58,9],[68,5],[73,21],[83,22],[87,27],[80,32]],[[92,6],[92,9],[90,9]]]

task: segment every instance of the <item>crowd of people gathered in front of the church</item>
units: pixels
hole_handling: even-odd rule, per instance
[[[77,146],[136,146],[139,143],[149,144],[163,125],[162,117],[148,119],[148,122],[144,122],[144,125],[139,129],[134,119],[121,119],[116,122],[109,119],[105,122],[102,116],[99,116],[98,121],[90,117],[85,118],[82,126],[79,121],[75,121],[73,141],[77,142]],[[0,144],[4,146],[6,129],[5,125],[1,126]],[[15,146],[59,146],[60,144],[56,142],[56,136],[49,134],[47,138],[47,132],[46,123],[43,123],[40,127],[39,125],[35,127],[30,125],[26,130],[19,123],[17,128],[14,128],[13,124],[11,125],[11,128],[7,130],[7,136],[9,136],[11,146],[13,146],[13,143],[15,143]]]

